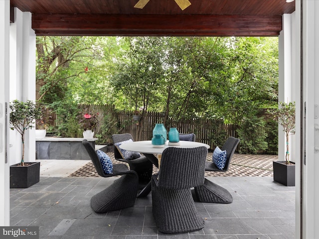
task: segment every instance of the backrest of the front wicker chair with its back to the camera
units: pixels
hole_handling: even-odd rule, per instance
[[[160,160],[159,187],[185,189],[203,184],[207,148],[168,147]]]

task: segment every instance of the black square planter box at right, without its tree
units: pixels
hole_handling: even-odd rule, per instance
[[[286,161],[274,161],[274,181],[285,186],[295,186],[295,163],[287,165]]]

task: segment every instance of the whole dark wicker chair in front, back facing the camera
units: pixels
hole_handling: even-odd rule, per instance
[[[158,174],[152,176],[153,216],[162,233],[185,233],[204,227],[191,188],[204,182],[206,147],[164,149]]]

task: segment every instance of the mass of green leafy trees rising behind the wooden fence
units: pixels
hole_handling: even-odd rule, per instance
[[[62,113],[60,133],[81,103],[140,111],[138,130],[148,111],[176,126],[208,118],[242,135],[249,127],[257,151],[275,135],[259,138],[258,130],[264,109],[278,102],[278,38],[37,37],[37,54],[37,99]]]

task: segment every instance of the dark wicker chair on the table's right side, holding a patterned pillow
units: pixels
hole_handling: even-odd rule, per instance
[[[226,150],[227,160],[225,167],[221,170],[216,167],[212,161],[205,162],[205,171],[222,171],[225,172],[229,168],[230,160],[235,152],[235,149],[239,143],[239,139],[235,137],[229,137],[224,143],[221,150]],[[231,203],[233,202],[233,197],[231,194],[223,187],[207,180],[203,185],[195,187],[195,193],[197,199],[200,202],[206,203]]]

